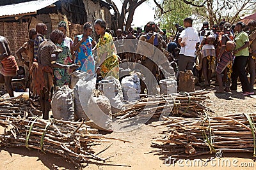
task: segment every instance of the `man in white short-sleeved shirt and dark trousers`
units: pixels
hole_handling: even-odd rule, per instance
[[[178,42],[181,46],[179,55],[179,71],[193,70],[196,48],[200,43],[198,32],[192,27],[193,19],[183,20],[184,31],[181,32]]]

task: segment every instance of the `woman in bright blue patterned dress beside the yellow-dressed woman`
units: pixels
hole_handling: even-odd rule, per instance
[[[75,51],[75,63],[80,64],[77,70],[88,74],[95,74],[95,61],[92,54],[92,46],[96,45],[92,39],[92,25],[86,22],[83,25],[84,32],[75,37],[73,49]]]

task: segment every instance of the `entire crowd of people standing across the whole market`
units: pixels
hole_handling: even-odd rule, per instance
[[[99,36],[97,41],[92,38],[93,27]],[[16,55],[29,68],[30,96],[40,97],[44,119],[49,118],[54,87],[70,85],[74,70],[97,74],[101,80],[107,75],[118,79],[119,64],[127,61],[147,67],[154,78],[159,80],[159,67],[173,74],[173,69],[166,65],[167,60],[172,60],[179,65],[178,72],[193,71],[193,74],[202,80],[200,85],[204,87],[209,86],[212,78],[216,76],[219,85],[217,93],[237,90],[239,78],[242,94],[253,94],[256,20],[248,25],[237,22],[233,27],[230,23],[221,21],[219,25],[212,25],[211,29],[209,23],[204,22],[198,32],[193,28],[193,19],[188,17],[184,19],[184,27],[179,24],[175,24],[175,27],[175,35],[167,42],[166,32],[155,22],[148,22],[144,32],[141,27],[137,27],[136,30],[129,28],[127,31],[117,29],[113,32],[107,29],[104,20],[96,20],[93,25],[85,23],[83,34],[77,35],[73,41],[66,36],[66,22],[61,21],[58,29],[51,32],[49,39],[45,39],[47,26],[39,23],[35,29],[29,30],[28,41],[17,50]],[[156,62],[152,59],[152,55],[156,55],[156,50],[145,55],[136,52],[117,53],[116,48],[118,51],[124,48],[125,39],[138,39],[150,43],[164,56],[157,55]],[[15,57],[11,55],[8,39],[1,36],[0,42],[1,80],[4,80],[10,97],[13,97],[12,77],[17,74],[19,67]],[[139,43],[135,45],[132,48],[137,49],[137,52],[141,50]],[[26,61],[22,53],[26,53],[29,60]],[[246,76],[246,66],[250,73],[250,81]],[[156,92],[152,78],[146,77],[145,82],[141,82],[141,92],[145,92],[146,88],[147,92]]]

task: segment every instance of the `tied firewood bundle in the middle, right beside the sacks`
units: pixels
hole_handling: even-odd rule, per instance
[[[163,116],[177,117],[202,117],[205,113],[213,113],[204,105],[206,96],[211,91],[199,90],[196,92],[181,92],[179,94],[168,94],[165,96],[142,96],[134,103],[125,105],[125,110],[115,113],[112,117],[153,117]]]

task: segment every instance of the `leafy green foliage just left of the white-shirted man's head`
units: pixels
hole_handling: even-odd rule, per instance
[[[164,0],[163,10],[168,11],[161,14],[159,8],[156,10],[156,20],[159,20],[161,29],[166,29],[167,36],[172,36],[176,32],[175,24],[183,25],[183,20],[192,15],[192,6],[182,0]]]

